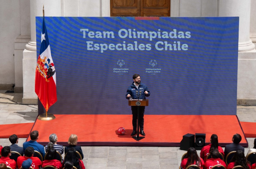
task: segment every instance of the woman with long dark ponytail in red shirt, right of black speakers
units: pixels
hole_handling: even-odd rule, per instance
[[[204,146],[200,152],[200,157],[203,159],[204,162],[206,162],[206,157],[209,155],[210,151],[215,149],[217,149],[224,156],[224,151],[219,146],[219,143],[218,143],[218,136],[213,134],[210,138],[210,144],[208,144],[207,146]]]

